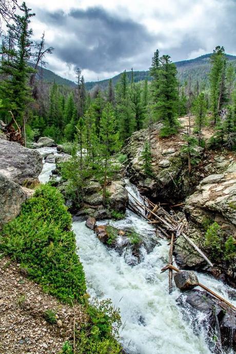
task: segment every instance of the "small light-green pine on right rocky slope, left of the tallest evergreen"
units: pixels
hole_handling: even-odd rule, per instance
[[[193,112],[195,114],[195,130],[198,132],[199,137],[199,145],[201,145],[202,142],[202,128],[205,127],[207,120],[206,120],[206,100],[204,93],[201,92],[199,96],[196,98],[196,100],[193,103]]]

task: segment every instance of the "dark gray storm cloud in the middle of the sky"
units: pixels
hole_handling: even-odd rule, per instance
[[[58,58],[95,72],[135,65],[130,58],[147,51],[156,41],[141,24],[112,16],[99,7],[71,10],[69,14],[41,12],[38,17],[59,34],[50,43]]]

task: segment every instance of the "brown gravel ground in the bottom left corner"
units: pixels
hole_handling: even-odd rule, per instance
[[[0,354],[55,354],[73,339],[73,308],[45,294],[24,277],[19,264],[0,260]],[[86,321],[83,308],[75,307],[76,329]],[[53,310],[56,323],[45,320]]]

